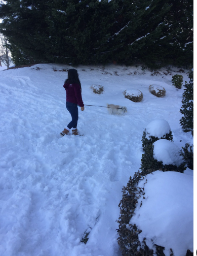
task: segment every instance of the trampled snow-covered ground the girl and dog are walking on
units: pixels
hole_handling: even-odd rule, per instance
[[[140,67],[115,65],[76,68],[84,104],[97,107],[79,111],[78,130],[84,136],[61,138],[70,114],[63,88],[67,72],[60,70],[69,68],[40,64],[0,71],[1,256],[120,256],[118,205],[123,186],[140,168],[144,129],[164,119],[176,146],[192,141],[179,123],[183,87],[176,89],[171,82],[179,69],[152,76]],[[189,81],[186,72],[181,73],[183,83]],[[104,92],[93,93],[93,84],[102,85]],[[164,87],[166,96],[156,98],[150,84]],[[124,98],[126,89],[140,90],[142,102]],[[107,108],[98,107],[107,103],[128,111],[109,115]],[[193,171],[179,175],[185,175],[184,194]],[[85,233],[86,244],[81,242]]]

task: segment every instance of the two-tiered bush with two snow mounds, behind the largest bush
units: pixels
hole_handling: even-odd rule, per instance
[[[179,148],[173,143],[170,125],[166,120],[156,119],[147,125],[142,136],[142,147],[144,153],[142,154],[140,169],[143,173],[148,169],[173,170],[183,173],[186,169]],[[166,158],[157,157],[161,151],[163,152],[162,156],[167,155],[169,157],[169,161],[166,161]],[[178,159],[180,162],[177,162]]]

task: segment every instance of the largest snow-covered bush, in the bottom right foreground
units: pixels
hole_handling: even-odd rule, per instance
[[[192,181],[189,175],[152,170],[130,177],[117,220],[123,256],[193,255]]]

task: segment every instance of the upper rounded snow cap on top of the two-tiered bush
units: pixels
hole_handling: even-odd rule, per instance
[[[148,123],[146,126],[146,137],[154,136],[159,139],[164,135],[169,134],[171,132],[171,128],[169,123],[164,119],[155,119]]]

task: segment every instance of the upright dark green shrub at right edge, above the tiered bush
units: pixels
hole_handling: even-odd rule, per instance
[[[180,124],[184,132],[192,132],[193,135],[193,71],[188,74],[189,83],[185,81],[182,107],[180,113],[183,115]]]

